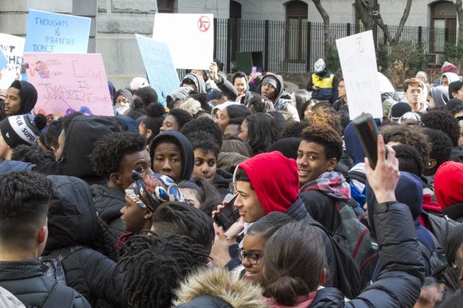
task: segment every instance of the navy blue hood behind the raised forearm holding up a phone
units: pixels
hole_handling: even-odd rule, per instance
[[[416,227],[420,225],[418,217],[423,211],[423,181],[416,175],[401,171],[401,177],[395,189],[396,201],[407,205],[412,213]],[[368,218],[370,225],[375,230],[372,217],[375,215],[376,196],[368,182],[366,183],[366,199],[368,203]]]

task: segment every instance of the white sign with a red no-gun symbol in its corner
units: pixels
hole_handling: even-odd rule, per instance
[[[209,69],[214,53],[213,14],[156,14],[153,39],[169,46],[175,68]]]

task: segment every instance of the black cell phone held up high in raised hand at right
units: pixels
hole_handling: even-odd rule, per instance
[[[371,168],[375,169],[378,162],[377,140],[379,134],[375,120],[371,114],[362,114],[352,122],[361,147],[364,149],[366,157],[368,157],[368,162],[370,162]],[[387,150],[385,154],[387,157]]]

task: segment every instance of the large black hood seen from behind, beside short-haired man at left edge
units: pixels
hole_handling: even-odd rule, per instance
[[[44,255],[59,248],[91,246],[98,233],[96,209],[87,183],[77,177],[49,175],[55,196],[48,211],[48,240]]]

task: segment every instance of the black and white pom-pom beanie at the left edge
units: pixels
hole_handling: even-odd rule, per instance
[[[0,122],[0,132],[6,144],[15,148],[20,144],[35,144],[46,125],[47,118],[43,114],[8,116]]]

